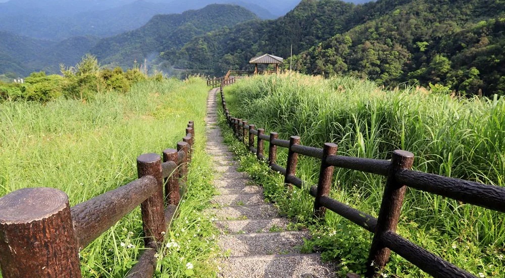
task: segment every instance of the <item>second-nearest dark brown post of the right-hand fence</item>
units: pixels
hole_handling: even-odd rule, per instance
[[[337,153],[337,145],[333,143],[325,143],[323,147],[323,157],[321,159],[321,169],[319,170],[319,181],[317,183],[316,200],[314,201],[314,217],[324,218],[326,208],[321,206],[320,200],[322,196],[328,196],[331,189],[331,179],[333,178],[334,166],[326,163],[326,158],[329,155]]]

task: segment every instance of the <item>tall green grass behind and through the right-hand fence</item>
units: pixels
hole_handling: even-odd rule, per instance
[[[314,147],[334,142],[339,154],[355,157],[389,159],[392,150],[408,150],[416,155],[416,170],[504,186],[504,99],[455,99],[423,88],[386,90],[355,78],[296,73],[246,78],[227,87],[226,98],[232,115],[284,139],[298,135],[302,144]],[[285,163],[285,153],[279,157]],[[298,176],[317,182],[319,162],[302,158],[298,165]],[[331,196],[376,216],[384,178],[335,172]],[[312,199],[300,195],[284,202],[281,194],[272,193],[292,216],[311,217]],[[362,272],[371,240],[363,234],[368,232],[333,213],[327,224],[324,239],[314,243],[326,248],[328,258],[344,258],[343,271]],[[399,233],[477,275],[505,276],[502,213],[410,190]],[[425,275],[396,256],[386,271]]]

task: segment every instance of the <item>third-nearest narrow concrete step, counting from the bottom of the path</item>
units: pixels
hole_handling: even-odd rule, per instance
[[[220,220],[216,226],[228,234],[271,233],[285,231],[289,221],[285,218]]]

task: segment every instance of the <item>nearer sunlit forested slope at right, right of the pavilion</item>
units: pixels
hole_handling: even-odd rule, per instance
[[[382,1],[386,2],[387,1]],[[293,58],[312,74],[505,95],[505,1],[415,0]]]

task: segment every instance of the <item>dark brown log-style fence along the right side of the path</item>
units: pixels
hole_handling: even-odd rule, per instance
[[[407,151],[396,150],[392,153],[391,160],[378,160],[337,155],[337,145],[332,143],[325,143],[322,149],[303,146],[300,145],[300,137],[298,136],[291,136],[289,140],[280,140],[276,132],[266,135],[264,129],[256,128],[254,124],[232,117],[226,107],[222,86],[221,101],[226,120],[235,136],[239,140],[243,140],[249,151],[255,153],[259,160],[266,161],[271,169],[282,173],[284,182],[289,187],[302,188],[304,185],[304,181],[295,175],[298,155],[321,160],[318,184],[310,187],[309,190],[309,194],[315,197],[314,216],[323,218],[328,209],[374,234],[367,263],[367,277],[379,276],[379,272],[389,260],[390,250],[434,277],[475,277],[395,233],[403,198],[407,188],[410,187],[464,203],[505,212],[505,188],[413,171],[411,167],[414,154]],[[268,157],[265,156],[265,141],[270,143]],[[276,164],[277,147],[289,150],[285,168]],[[334,167],[387,177],[377,218],[328,196]]]

